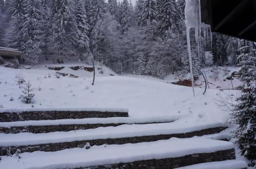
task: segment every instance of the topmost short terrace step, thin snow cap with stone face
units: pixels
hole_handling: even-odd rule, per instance
[[[0,122],[128,117],[127,109],[109,108],[18,108],[0,109]]]

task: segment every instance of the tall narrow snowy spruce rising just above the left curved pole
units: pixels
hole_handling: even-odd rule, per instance
[[[89,35],[89,24],[86,15],[86,9],[84,8],[84,4],[82,0],[78,0],[76,3],[76,23],[77,23],[77,42],[76,45],[78,47],[79,59],[82,61],[83,56],[86,53],[87,49],[89,49],[90,39]]]

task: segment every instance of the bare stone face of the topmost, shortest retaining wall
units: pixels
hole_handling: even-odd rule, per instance
[[[128,112],[100,112],[100,111],[24,111],[1,112],[0,122],[15,122],[27,120],[60,120],[86,118],[129,117]]]

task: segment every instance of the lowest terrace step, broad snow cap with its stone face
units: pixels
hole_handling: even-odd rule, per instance
[[[3,156],[0,168],[176,168],[235,159],[232,143],[202,138],[172,138],[151,143],[102,145],[57,152]]]

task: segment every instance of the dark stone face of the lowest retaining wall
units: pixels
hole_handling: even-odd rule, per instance
[[[236,159],[236,153],[234,149],[223,150],[214,153],[201,153],[201,154],[191,154],[183,157],[176,158],[165,158],[165,159],[152,159],[143,161],[134,161],[130,163],[119,163],[110,164],[104,166],[94,166],[94,167],[80,167],[76,169],[171,169],[177,167],[183,167],[187,165],[194,165],[198,163],[214,162],[214,161],[224,161]],[[241,168],[242,169],[242,168]]]

